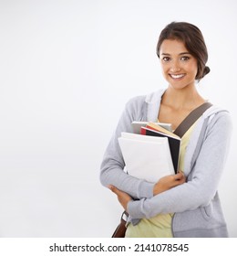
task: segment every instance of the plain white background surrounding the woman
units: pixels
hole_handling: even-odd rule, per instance
[[[0,237],[109,237],[122,208],[99,165],[129,98],[166,86],[156,43],[171,21],[201,28],[202,95],[232,113],[220,184],[237,237],[234,0],[0,0]],[[210,176],[211,178],[211,176]]]

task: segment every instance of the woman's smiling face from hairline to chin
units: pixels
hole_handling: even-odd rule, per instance
[[[195,59],[184,43],[176,39],[165,39],[160,46],[160,64],[165,80],[175,89],[195,85],[198,72]]]

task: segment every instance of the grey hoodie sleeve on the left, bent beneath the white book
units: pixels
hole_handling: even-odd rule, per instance
[[[144,97],[137,97],[127,103],[117,129],[108,144],[100,169],[102,185],[118,187],[134,198],[152,197],[154,184],[129,176],[124,172],[125,164],[118,144],[118,137],[121,132],[132,132],[132,121],[142,120],[144,117],[143,104],[145,104]]]

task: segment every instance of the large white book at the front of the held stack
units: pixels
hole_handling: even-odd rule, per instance
[[[167,137],[121,133],[118,144],[130,176],[157,182],[175,173]]]

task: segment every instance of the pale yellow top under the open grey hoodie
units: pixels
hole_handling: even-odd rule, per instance
[[[195,123],[194,123],[195,124]],[[190,141],[191,132],[194,124],[191,128],[182,136],[180,144],[180,158],[179,158],[179,170],[183,171],[184,168],[184,156],[186,147]],[[133,226],[129,223],[126,231],[126,238],[171,238],[171,221],[173,214],[158,214],[151,219],[141,219],[138,225]]]

